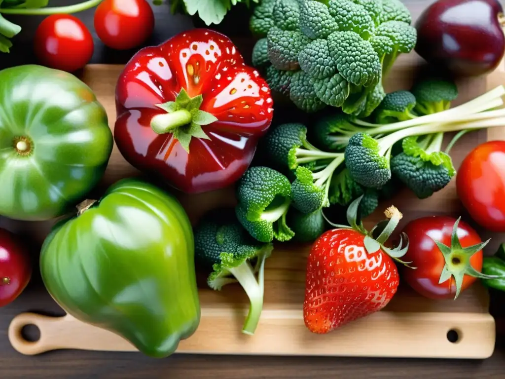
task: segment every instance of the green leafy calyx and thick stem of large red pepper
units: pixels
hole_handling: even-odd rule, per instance
[[[203,102],[201,94],[190,98],[184,88],[181,89],[174,102],[157,104],[156,106],[167,113],[154,116],[151,128],[155,133],[172,133],[184,150],[189,153],[192,137],[210,139],[201,127],[216,122],[216,116],[201,111]]]

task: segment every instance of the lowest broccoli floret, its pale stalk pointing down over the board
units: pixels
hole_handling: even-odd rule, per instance
[[[249,298],[249,312],[242,333],[254,335],[263,310],[265,260],[271,243],[259,243],[238,223],[233,211],[208,212],[194,228],[195,265],[210,272],[207,283],[220,291],[240,283]]]

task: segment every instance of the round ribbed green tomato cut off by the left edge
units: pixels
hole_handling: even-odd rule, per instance
[[[114,139],[77,77],[43,66],[0,71],[0,215],[61,216],[102,178]]]

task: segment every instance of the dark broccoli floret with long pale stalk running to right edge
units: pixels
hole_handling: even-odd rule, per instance
[[[478,115],[473,115],[473,117],[460,116],[459,122],[413,126],[398,130],[378,139],[375,139],[368,133],[356,133],[349,138],[349,143],[345,148],[346,167],[351,176],[358,183],[366,187],[380,188],[391,179],[391,149],[399,140],[425,134],[446,133],[469,129],[477,130],[505,124],[505,109],[485,113],[487,113],[486,118],[478,117]],[[438,154],[438,152],[431,154],[420,153],[418,157],[421,161],[427,162],[433,159],[432,157],[434,155]],[[417,170],[417,166],[413,165],[412,169]],[[417,174],[423,175],[422,173]],[[404,173],[403,175],[407,177],[411,174]]]

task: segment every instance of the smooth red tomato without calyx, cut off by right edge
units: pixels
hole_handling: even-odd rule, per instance
[[[472,150],[458,170],[456,188],[477,223],[505,231],[505,141],[489,141]]]

